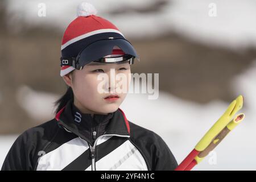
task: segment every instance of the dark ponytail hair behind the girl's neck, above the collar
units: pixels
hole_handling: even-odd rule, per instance
[[[59,100],[54,102],[55,107],[57,106],[55,114],[57,114],[67,104],[69,100],[74,100],[73,90],[70,86],[68,86],[66,93],[61,96]]]

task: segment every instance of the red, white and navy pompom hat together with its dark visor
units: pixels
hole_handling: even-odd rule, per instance
[[[77,18],[68,25],[61,43],[61,77],[101,57],[129,55],[127,59],[137,57],[139,60],[135,49],[118,28],[96,13],[90,3],[82,2],[77,8]]]

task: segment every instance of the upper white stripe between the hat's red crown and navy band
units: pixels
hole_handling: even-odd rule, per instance
[[[115,33],[121,34],[123,36],[123,34],[120,31],[112,29],[112,28],[105,28],[105,29],[95,30],[95,31],[88,32],[86,34],[77,36],[76,38],[73,38],[73,39],[69,40],[68,42],[66,42],[65,44],[63,44],[61,46],[61,50],[63,50],[65,47],[69,46],[72,43],[75,43],[75,42],[77,42],[81,39],[87,38],[88,36],[101,34],[101,33],[106,33],[106,32],[115,32]],[[123,37],[125,37],[125,36],[123,36]]]

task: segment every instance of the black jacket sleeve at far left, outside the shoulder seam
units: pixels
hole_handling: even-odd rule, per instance
[[[30,151],[32,144],[26,133],[20,135],[11,146],[5,161],[3,162],[2,171],[31,170]]]

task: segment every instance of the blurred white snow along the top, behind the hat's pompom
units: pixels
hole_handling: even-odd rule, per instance
[[[20,0],[7,1],[10,17],[10,31],[21,29],[21,17],[26,26],[51,26],[64,32],[71,20],[76,18],[76,9],[81,0]],[[142,8],[155,3],[154,0],[141,1],[86,1],[96,7],[98,16],[113,22],[125,35],[133,38],[158,36],[167,32],[176,32],[189,39],[232,49],[244,49],[256,46],[256,11],[254,0],[172,0],[158,12],[139,13],[129,11],[122,14],[110,14],[123,7]],[[45,3],[46,16],[39,17],[39,3]],[[216,5],[216,15],[209,16],[209,5]],[[128,26],[129,25],[129,26]],[[129,28],[128,28],[129,27]],[[24,27],[23,27],[24,28]]]

